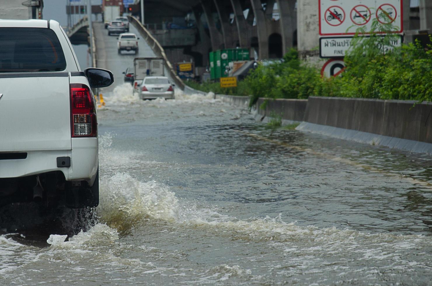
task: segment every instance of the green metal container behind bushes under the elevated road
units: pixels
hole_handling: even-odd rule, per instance
[[[226,67],[229,62],[238,60],[249,60],[249,49],[223,49],[210,52],[210,78],[219,79],[228,76]]]

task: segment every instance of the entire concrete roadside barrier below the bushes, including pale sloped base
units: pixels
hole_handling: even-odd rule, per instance
[[[216,95],[236,106],[248,106],[249,98]],[[388,146],[412,152],[432,153],[432,103],[414,101],[309,97],[268,100],[265,110],[258,99],[255,119],[268,122],[280,115],[282,124],[301,124],[297,130],[344,140]]]

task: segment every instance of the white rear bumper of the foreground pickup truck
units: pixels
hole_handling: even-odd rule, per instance
[[[25,152],[25,151],[23,151]],[[67,181],[87,181],[93,185],[98,168],[98,138],[72,138],[72,150],[26,151],[25,159],[0,160],[0,178],[17,178],[61,171]],[[70,167],[57,158],[69,157]]]

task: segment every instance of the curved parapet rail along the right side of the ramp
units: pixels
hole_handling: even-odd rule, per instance
[[[168,60],[168,57],[165,54],[165,50],[162,48],[162,46],[159,44],[158,40],[152,36],[152,34],[149,32],[149,30],[146,29],[146,27],[143,26],[143,24],[138,21],[137,18],[133,16],[127,16],[129,19],[129,22],[131,22],[135,28],[138,29],[140,34],[145,38],[147,44],[152,48],[152,50],[160,57],[163,57],[165,61],[166,67],[168,67],[168,71],[172,79],[174,79],[175,84],[181,89],[184,90],[184,83],[181,80],[180,77],[178,77],[177,73],[175,72],[174,68],[172,67],[171,62]]]

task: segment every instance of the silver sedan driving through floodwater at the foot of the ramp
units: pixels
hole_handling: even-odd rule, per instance
[[[140,99],[174,99],[174,85],[166,76],[146,76],[140,86]]]

